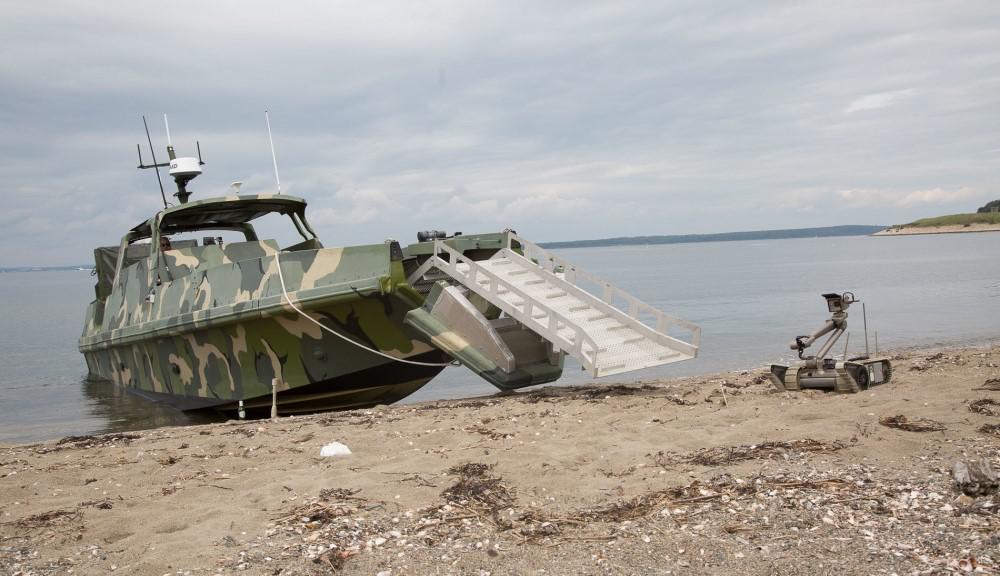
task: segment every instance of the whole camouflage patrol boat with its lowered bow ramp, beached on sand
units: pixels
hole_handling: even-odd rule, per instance
[[[200,153],[168,153],[140,167],[169,165],[179,203],[94,251],[79,340],[92,378],[183,410],[251,415],[277,390],[288,414],[395,402],[451,363],[511,390],[558,379],[566,354],[594,376],[697,354],[697,326],[513,231],[326,248],[301,198],[188,202]],[[254,222],[269,214],[298,241],[260,238]]]

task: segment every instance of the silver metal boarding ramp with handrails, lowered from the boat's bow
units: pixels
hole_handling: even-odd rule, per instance
[[[661,312],[513,232],[489,260],[472,260],[435,240],[433,254],[410,275],[410,284],[434,268],[557,351],[576,358],[595,377],[688,360],[698,353],[698,326]],[[593,286],[601,297],[580,284]],[[668,335],[675,329],[687,332],[690,341]]]

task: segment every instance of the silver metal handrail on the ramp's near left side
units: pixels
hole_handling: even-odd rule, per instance
[[[448,260],[441,258],[440,255],[442,253],[448,255]],[[467,265],[466,271],[460,270],[458,267],[459,264]],[[556,348],[569,353],[579,360],[587,370],[593,370],[594,366],[597,365],[599,348],[597,343],[594,342],[582,327],[549,306],[539,302],[536,298],[525,293],[504,278],[487,270],[475,260],[447,246],[441,240],[434,241],[434,251],[431,257],[417,271],[410,275],[411,283],[412,279],[419,278],[431,268],[438,268],[444,271],[473,292],[486,298],[487,301],[503,310],[521,324],[544,335]],[[485,286],[480,284],[477,281],[479,276],[487,278],[489,282]],[[498,287],[500,286],[519,296],[523,300],[523,303],[520,306],[515,306],[500,298],[498,291]],[[533,311],[536,308],[545,313],[547,324],[540,322],[539,318],[535,318]],[[562,336],[559,333],[560,328],[571,329],[574,335],[573,340],[570,341]],[[584,344],[589,346],[589,354],[584,352]]]

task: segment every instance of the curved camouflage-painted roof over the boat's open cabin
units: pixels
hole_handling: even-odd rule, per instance
[[[157,212],[132,232],[141,237],[152,236],[154,226],[162,232],[180,232],[211,228],[229,228],[245,224],[271,212],[292,214],[305,212],[306,201],[286,194],[245,194],[196,200]]]

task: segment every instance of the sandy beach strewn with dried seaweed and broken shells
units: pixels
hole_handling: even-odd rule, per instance
[[[1000,347],[893,362],[4,446],[0,574],[992,573],[995,497],[950,471],[1000,465]]]

